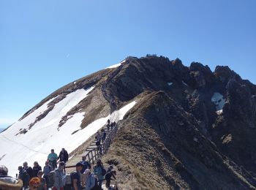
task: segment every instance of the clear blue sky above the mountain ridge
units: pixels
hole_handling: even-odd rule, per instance
[[[256,83],[256,1],[0,1],[0,128],[65,84],[147,53]]]

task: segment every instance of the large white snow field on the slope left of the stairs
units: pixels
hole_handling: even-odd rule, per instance
[[[44,166],[51,148],[57,154],[59,154],[61,148],[65,148],[69,153],[74,151],[75,148],[102,128],[107,123],[108,118],[112,122],[117,122],[123,119],[127,111],[136,104],[136,102],[131,102],[108,115],[108,117],[99,118],[83,129],[80,128],[80,124],[83,118],[86,117],[86,113],[75,113],[58,130],[62,116],[66,115],[72,107],[84,99],[92,89],[93,87],[87,90],[80,89],[68,94],[61,102],[55,104],[53,110],[45,118],[35,123],[26,134],[15,136],[20,129],[27,129],[28,125],[33,123],[40,113],[47,110],[48,103],[54,98],[45,102],[33,113],[27,115],[26,118],[14,123],[9,129],[0,134],[0,164],[8,167],[9,175],[15,176],[15,173],[18,172],[18,166],[22,165],[23,161],[28,161],[30,166],[33,165],[34,161],[38,161],[41,166]],[[75,133],[72,134],[73,132]]]

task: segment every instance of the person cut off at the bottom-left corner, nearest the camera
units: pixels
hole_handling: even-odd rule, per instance
[[[8,168],[0,165],[0,189],[20,190],[22,186],[22,180],[8,176]]]

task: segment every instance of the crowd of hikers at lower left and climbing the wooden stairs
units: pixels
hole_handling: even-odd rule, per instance
[[[116,122],[110,123],[108,120],[108,130],[116,125]],[[100,142],[105,141],[106,132],[102,129],[101,132],[96,134],[96,145],[98,151],[102,153]],[[116,180],[116,171],[113,170],[113,166],[109,166],[108,170],[103,167],[102,161],[97,160],[93,168],[89,161],[86,161],[86,156],[82,156],[82,160],[79,161],[74,172],[70,173],[70,178],[67,178],[65,171],[65,163],[69,159],[69,154],[62,148],[59,156],[50,150],[48,159],[45,161],[45,166],[42,168],[37,161],[34,161],[34,166],[29,167],[27,161],[23,162],[23,166],[18,167],[18,174],[16,178],[8,176],[7,167],[0,166],[0,190],[96,190],[102,189],[102,182],[105,180],[105,187],[110,188],[110,180]],[[59,163],[57,167],[57,163]]]

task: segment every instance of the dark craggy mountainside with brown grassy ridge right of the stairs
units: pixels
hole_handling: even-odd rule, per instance
[[[124,186],[255,189],[255,89],[227,66],[131,58],[105,91],[116,108],[142,98],[105,161],[118,160]]]

